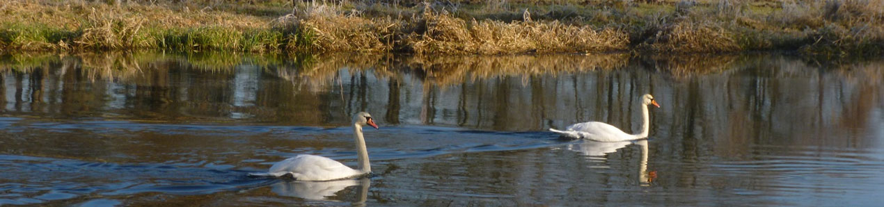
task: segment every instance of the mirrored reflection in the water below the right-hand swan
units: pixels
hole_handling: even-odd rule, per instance
[[[636,144],[642,150],[642,160],[638,163],[638,179],[641,183],[641,186],[650,186],[651,181],[657,178],[657,172],[651,171],[648,172],[648,140],[638,140],[634,142],[613,142],[613,143],[605,143],[605,142],[596,142],[591,140],[580,140],[581,142],[577,144],[569,144],[567,149],[573,152],[580,152],[584,156],[592,156],[592,157],[602,157],[611,152],[617,152],[617,150],[629,146],[629,144]],[[605,159],[605,158],[600,158]]]

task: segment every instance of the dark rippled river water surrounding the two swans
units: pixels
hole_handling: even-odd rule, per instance
[[[0,204],[879,205],[884,59],[0,56]],[[651,138],[627,131],[652,93]],[[373,176],[248,177],[299,153]]]

